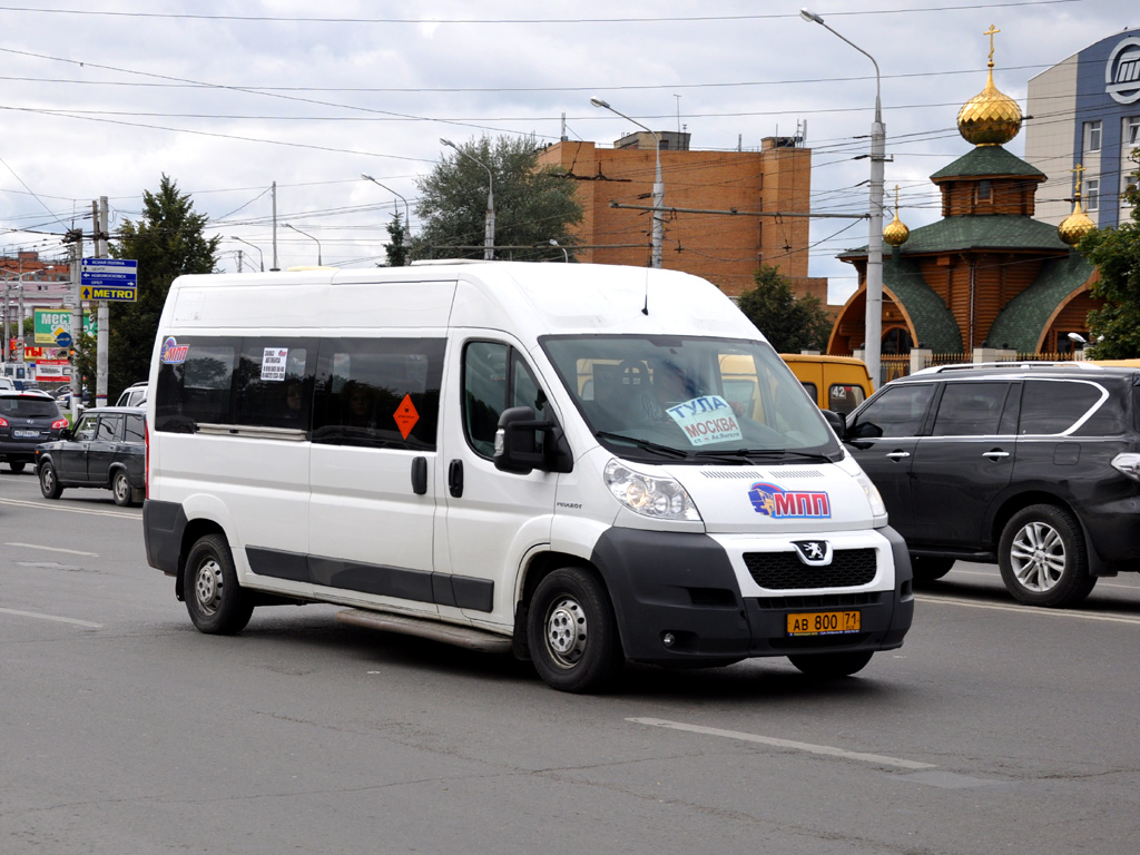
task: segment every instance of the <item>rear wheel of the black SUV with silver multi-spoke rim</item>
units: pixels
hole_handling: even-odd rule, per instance
[[[1081,524],[1052,505],[1031,505],[1010,518],[997,563],[1009,593],[1029,605],[1077,605],[1097,584],[1097,577],[1089,575]]]

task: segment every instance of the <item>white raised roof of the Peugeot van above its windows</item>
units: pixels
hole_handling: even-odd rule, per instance
[[[715,285],[689,274],[521,261],[182,276],[171,287],[161,331],[251,325],[507,329],[528,344],[549,333],[759,337]]]

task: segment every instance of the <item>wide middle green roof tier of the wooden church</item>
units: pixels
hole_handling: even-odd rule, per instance
[[[898,247],[903,255],[963,250],[1052,250],[1068,251],[1057,236],[1057,227],[1019,214],[968,214],[947,217],[911,230],[910,239]],[[883,252],[886,256],[890,247]],[[863,258],[866,246],[848,250],[839,258]]]

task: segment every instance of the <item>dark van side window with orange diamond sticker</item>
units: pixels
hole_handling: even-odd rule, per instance
[[[445,339],[320,342],[312,441],[434,450]]]

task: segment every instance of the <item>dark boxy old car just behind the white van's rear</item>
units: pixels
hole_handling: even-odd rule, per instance
[[[146,410],[89,409],[74,430],[35,451],[35,472],[46,498],[64,487],[103,487],[120,506],[141,504],[146,491]]]

